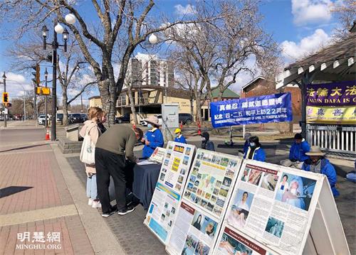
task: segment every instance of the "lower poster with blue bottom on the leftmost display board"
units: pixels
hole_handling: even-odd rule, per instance
[[[145,224],[165,244],[177,215],[181,196],[162,183],[157,183]]]

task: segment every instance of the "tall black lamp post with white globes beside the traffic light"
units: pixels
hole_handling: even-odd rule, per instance
[[[66,15],[66,21],[69,24],[75,23],[75,16],[73,14]],[[59,45],[57,41],[57,33],[62,34],[62,40],[64,45]],[[43,36],[43,50],[46,50],[46,45],[52,45],[52,117],[51,117],[51,140],[56,141],[56,113],[57,113],[57,48],[63,46],[64,51],[67,52],[67,42],[69,33],[66,28],[63,28],[61,24],[57,23],[55,18],[53,21],[53,42],[46,43],[48,37],[48,28],[46,26],[42,27],[42,36]]]

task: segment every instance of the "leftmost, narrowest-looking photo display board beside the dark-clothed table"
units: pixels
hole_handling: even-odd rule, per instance
[[[172,231],[194,152],[194,145],[173,141],[167,144],[155,192],[144,222],[163,244],[167,243]]]

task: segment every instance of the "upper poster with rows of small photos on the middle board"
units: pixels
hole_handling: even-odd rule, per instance
[[[240,166],[241,158],[199,148],[184,189],[184,198],[215,217],[221,217]]]

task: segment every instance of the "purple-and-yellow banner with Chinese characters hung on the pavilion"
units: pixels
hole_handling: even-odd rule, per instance
[[[356,81],[308,85],[306,91],[308,123],[355,123]]]

